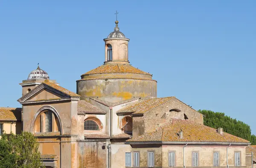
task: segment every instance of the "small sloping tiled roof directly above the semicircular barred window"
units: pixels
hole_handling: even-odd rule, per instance
[[[107,113],[104,110],[100,109],[99,107],[93,106],[92,104],[84,100],[78,101],[77,112],[78,113],[102,113],[102,114]]]

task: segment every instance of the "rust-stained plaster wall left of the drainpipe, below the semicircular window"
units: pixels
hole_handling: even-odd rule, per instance
[[[78,142],[78,168],[106,168],[108,148],[104,140]]]

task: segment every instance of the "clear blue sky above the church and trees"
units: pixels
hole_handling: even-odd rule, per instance
[[[0,106],[19,107],[19,83],[38,62],[76,92],[104,62],[115,27],[134,67],[152,73],[158,97],[176,96],[249,124],[256,134],[256,1],[1,0]]]

